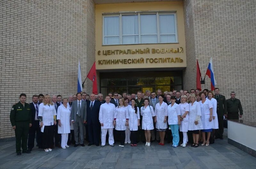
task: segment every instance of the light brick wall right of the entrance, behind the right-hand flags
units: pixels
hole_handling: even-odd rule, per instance
[[[241,100],[244,109],[243,119],[250,121],[256,121],[252,92],[256,89],[255,9],[254,0],[184,0],[185,29],[188,29],[186,20],[191,17],[191,10],[194,25],[194,43],[187,43],[191,38],[188,36],[189,31],[186,31],[188,68],[184,71],[184,77],[191,76],[195,81],[195,59],[198,59],[204,76],[212,57],[216,87],[227,99],[231,91],[236,92],[236,98]],[[193,45],[195,57],[190,60],[188,49]],[[188,73],[187,70],[195,72]],[[209,78],[206,77],[205,82],[202,88],[210,89]],[[195,88],[196,83],[194,86],[184,86]]]

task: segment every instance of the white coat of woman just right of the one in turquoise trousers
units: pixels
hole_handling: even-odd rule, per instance
[[[179,104],[180,117],[186,112],[189,112],[189,104],[187,102]],[[189,114],[187,114],[182,121],[180,121],[180,131],[188,132],[188,118]]]

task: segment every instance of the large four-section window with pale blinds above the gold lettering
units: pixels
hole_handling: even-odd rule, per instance
[[[177,42],[175,13],[103,16],[103,45]]]

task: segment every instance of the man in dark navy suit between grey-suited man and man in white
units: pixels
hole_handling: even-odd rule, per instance
[[[99,146],[100,143],[100,101],[95,100],[95,94],[90,95],[91,101],[87,102],[87,128],[88,128],[88,139],[89,144],[95,144]]]

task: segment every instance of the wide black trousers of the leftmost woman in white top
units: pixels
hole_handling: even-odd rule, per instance
[[[44,149],[53,147],[54,125],[44,126],[43,147]]]

